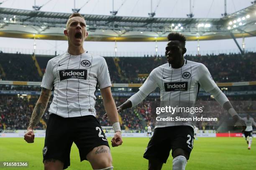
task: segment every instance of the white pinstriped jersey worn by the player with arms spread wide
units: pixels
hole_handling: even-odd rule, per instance
[[[139,88],[149,95],[156,87],[160,90],[161,107],[194,107],[200,86],[209,92],[218,87],[205,65],[185,60],[181,68],[172,68],[169,63],[156,67],[143,85]],[[171,113],[161,113],[161,117],[172,116]],[[155,128],[177,125],[190,125],[191,122],[156,121]]]

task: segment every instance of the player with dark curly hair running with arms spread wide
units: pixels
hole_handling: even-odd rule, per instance
[[[146,98],[156,87],[160,89],[161,102],[187,103],[195,105],[200,86],[210,92],[215,100],[228,110],[237,125],[243,120],[233,109],[228,98],[218,88],[207,67],[202,63],[184,59],[186,38],[179,33],[170,33],[165,55],[169,63],[156,67],[139,91],[118,107],[118,111],[134,107]],[[186,122],[156,121],[154,134],[148,143],[143,157],[148,159],[149,170],[161,170],[172,150],[173,170],[185,170],[193,148],[194,130]]]

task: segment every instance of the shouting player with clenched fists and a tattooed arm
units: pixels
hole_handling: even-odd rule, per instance
[[[79,13],[69,17],[64,35],[68,39],[68,50],[47,64],[41,95],[24,139],[28,143],[34,142],[33,128],[44,114],[54,87],[43,148],[45,170],[66,169],[70,165],[73,142],[79,149],[81,161],[88,160],[94,170],[113,170],[110,147],[95,110],[95,91],[99,85],[105,110],[115,130],[112,146],[121,145],[121,129],[110,90],[107,63],[103,57],[84,50],[88,32]]]

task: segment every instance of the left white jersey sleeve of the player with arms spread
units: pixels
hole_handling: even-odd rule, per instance
[[[146,81],[139,88],[139,90],[141,90],[145,95],[149,95],[157,87],[156,78],[155,78],[155,76],[156,76],[155,72],[156,72],[155,69],[153,71],[151,71],[151,73],[149,74],[149,76],[146,79]]]

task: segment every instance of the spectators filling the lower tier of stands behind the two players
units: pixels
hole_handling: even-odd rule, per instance
[[[0,130],[26,129],[28,127],[37,97],[38,96],[33,96],[28,98],[26,96],[19,97],[17,95],[0,95]],[[127,99],[127,97],[114,97],[117,106],[125,102]],[[233,106],[240,114],[245,114],[251,110],[256,110],[256,96],[236,96],[229,97],[229,99],[232,101],[237,100],[233,102]],[[49,104],[51,103],[51,100],[52,97],[49,100]],[[250,100],[252,102],[249,102]],[[202,114],[196,115],[197,117],[217,117],[219,120],[221,120],[223,117],[228,116],[228,113],[225,112],[217,102],[207,103],[210,101],[214,101],[214,99],[210,99],[210,97],[201,97],[198,100],[197,105],[207,105],[207,107],[205,107],[207,109],[204,110]],[[135,130],[136,132],[143,132],[146,130],[145,127],[147,125],[153,126],[156,117],[157,103],[159,104],[159,98],[147,97],[147,100],[143,100],[143,102],[141,102],[136,107],[120,112],[120,118],[122,122],[121,128],[123,130]],[[44,122],[47,123],[49,118],[49,104],[46,112],[42,117],[43,121],[38,123],[35,129],[45,129]],[[103,107],[103,100],[101,98],[96,100],[95,109],[97,111],[97,120],[99,120],[100,124],[102,126],[111,126],[109,120],[104,118],[105,109]],[[243,116],[245,117],[245,115]],[[206,129],[212,130],[212,127],[216,127],[217,124],[216,122],[207,122],[207,124],[198,122],[197,126],[205,126]]]

